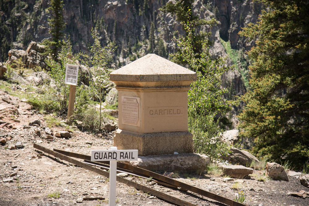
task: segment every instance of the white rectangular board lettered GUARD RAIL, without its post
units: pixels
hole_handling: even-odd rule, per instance
[[[91,161],[130,161],[138,159],[138,150],[91,150]]]

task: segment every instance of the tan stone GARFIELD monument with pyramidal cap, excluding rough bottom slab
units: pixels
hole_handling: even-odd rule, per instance
[[[188,132],[188,90],[197,74],[155,54],[113,71],[118,90],[114,146],[138,155],[193,154]]]

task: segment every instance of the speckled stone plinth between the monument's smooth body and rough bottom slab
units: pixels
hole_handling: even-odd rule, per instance
[[[138,155],[192,153],[193,135],[190,132],[138,133],[118,129],[114,137],[118,150],[138,150]]]

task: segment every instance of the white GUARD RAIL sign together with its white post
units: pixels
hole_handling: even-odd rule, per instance
[[[137,160],[138,150],[117,150],[112,146],[111,150],[91,150],[91,161],[110,161],[109,164],[109,196],[108,205],[116,205],[116,173],[117,160],[130,161]]]

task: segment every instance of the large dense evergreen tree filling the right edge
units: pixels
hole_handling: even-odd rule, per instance
[[[309,158],[309,4],[260,2],[268,9],[240,32],[257,39],[249,52],[251,88],[242,97],[247,105],[240,127],[254,138],[258,157],[300,168]]]

